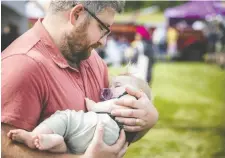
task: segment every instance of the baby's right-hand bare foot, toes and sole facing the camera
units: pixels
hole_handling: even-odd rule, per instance
[[[39,150],[50,150],[63,142],[63,137],[56,134],[40,134],[34,138],[34,145]]]

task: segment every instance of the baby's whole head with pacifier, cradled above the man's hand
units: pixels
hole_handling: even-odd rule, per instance
[[[142,90],[151,100],[151,89],[147,82],[132,75],[119,75],[112,79],[110,88],[105,89],[102,93],[102,99],[108,100],[118,98],[126,90],[126,87],[131,87],[136,90]],[[106,98],[106,99],[105,99]]]

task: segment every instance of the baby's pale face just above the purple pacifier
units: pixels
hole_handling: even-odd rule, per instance
[[[130,76],[117,76],[112,79],[112,84],[110,86],[110,89],[113,94],[113,98],[118,98],[120,95],[122,95],[126,90],[126,87],[135,88],[136,84],[134,83],[134,80]]]

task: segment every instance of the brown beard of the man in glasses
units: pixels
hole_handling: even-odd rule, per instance
[[[69,64],[79,66],[82,60],[91,55],[91,49],[98,44],[90,44],[87,36],[87,27],[89,23],[84,22],[75,31],[65,34],[65,43],[61,47],[63,56]]]

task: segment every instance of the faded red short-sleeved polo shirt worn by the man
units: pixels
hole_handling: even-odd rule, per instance
[[[100,100],[107,66],[93,50],[70,67],[44,26],[34,27],[2,52],[2,122],[32,130],[57,110],[86,110],[84,98]]]

